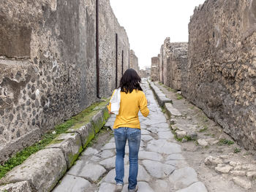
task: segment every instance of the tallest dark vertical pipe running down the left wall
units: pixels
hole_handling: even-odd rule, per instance
[[[99,0],[96,0],[96,94],[99,96]]]

